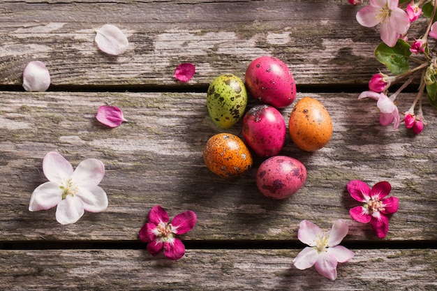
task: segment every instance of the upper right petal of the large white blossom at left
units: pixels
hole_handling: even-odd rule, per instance
[[[77,165],[71,179],[82,188],[97,186],[103,176],[105,176],[105,165],[96,158],[88,158]]]

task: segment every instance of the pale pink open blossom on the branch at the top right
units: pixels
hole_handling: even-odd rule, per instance
[[[398,7],[399,0],[370,0],[370,5],[357,13],[357,21],[363,27],[380,26],[380,36],[389,47],[394,47],[399,36],[410,28],[407,13]]]

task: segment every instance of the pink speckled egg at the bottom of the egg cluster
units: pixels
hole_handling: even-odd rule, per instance
[[[256,172],[256,186],[266,197],[285,199],[306,181],[304,164],[289,156],[273,156],[261,163]]]

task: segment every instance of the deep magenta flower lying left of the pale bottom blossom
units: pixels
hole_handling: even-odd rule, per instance
[[[141,227],[140,240],[148,243],[147,251],[153,256],[164,250],[165,257],[179,260],[185,254],[185,246],[175,234],[184,234],[193,229],[197,216],[193,211],[178,214],[169,223],[167,212],[159,205],[149,212],[149,222]]]

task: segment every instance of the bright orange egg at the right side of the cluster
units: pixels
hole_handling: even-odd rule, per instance
[[[331,140],[331,117],[320,101],[304,97],[296,103],[290,114],[288,130],[299,149],[317,151]]]

